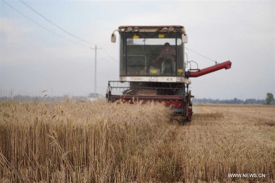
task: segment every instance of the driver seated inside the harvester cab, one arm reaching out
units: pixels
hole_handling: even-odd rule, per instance
[[[161,64],[161,74],[173,74],[176,70],[176,64],[174,57],[176,56],[176,51],[171,48],[169,43],[164,44],[164,49],[161,51],[160,55],[152,60],[152,63],[163,59]]]

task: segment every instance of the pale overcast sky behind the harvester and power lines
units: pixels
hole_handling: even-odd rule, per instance
[[[15,9],[47,29],[98,50],[97,91],[119,80],[119,42],[110,41],[120,25],[182,25],[188,48],[232,68],[191,78],[196,98],[264,99],[275,92],[274,1],[26,1],[54,27],[19,1]],[[118,36],[118,35],[117,35]],[[214,62],[186,50],[200,69]],[[108,54],[107,54],[108,53]],[[116,61],[115,61],[116,60]],[[1,1],[2,95],[86,96],[94,92],[94,50],[60,38]]]

